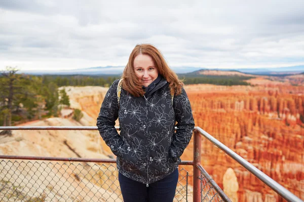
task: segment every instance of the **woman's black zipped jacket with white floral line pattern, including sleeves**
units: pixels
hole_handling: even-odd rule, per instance
[[[118,81],[104,97],[97,127],[117,156],[119,172],[148,186],[170,175],[180,163],[194,129],[191,106],[183,88],[180,95],[174,95],[172,106],[169,83],[164,78],[148,96],[134,97],[122,89],[119,106]],[[117,118],[120,134],[115,129]]]

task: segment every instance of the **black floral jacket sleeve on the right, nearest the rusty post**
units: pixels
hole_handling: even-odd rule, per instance
[[[176,133],[173,134],[170,146],[170,155],[174,161],[178,161],[184,149],[189,144],[194,129],[194,119],[188,96],[182,88],[181,94],[173,98],[175,121],[177,122]]]

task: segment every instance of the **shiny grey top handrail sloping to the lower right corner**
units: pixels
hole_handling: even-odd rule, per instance
[[[231,150],[229,147],[218,141],[216,138],[214,138],[212,135],[204,131],[200,127],[195,127],[195,130],[197,130],[201,135],[206,137],[209,141],[211,141],[214,145],[216,145],[218,148],[224,151],[227,155],[229,155],[231,158],[233,158],[235,161],[237,161],[239,164],[241,164],[246,170],[248,170],[250,173],[252,173],[254,176],[256,176],[258,179],[260,179],[262,182],[267,184],[270,188],[272,188],[274,191],[276,191],[280,196],[282,196],[287,201],[295,201],[295,202],[303,202],[300,198],[298,198],[296,195],[288,191],[285,187],[280,185],[278,182],[273,180],[271,177],[257,169],[255,166],[250,164],[248,161],[240,157],[237,153],[235,153],[233,150]]]

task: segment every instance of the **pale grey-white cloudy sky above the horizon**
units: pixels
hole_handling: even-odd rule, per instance
[[[303,11],[303,0],[1,0],[0,69],[125,66],[137,43],[171,67],[304,65]]]

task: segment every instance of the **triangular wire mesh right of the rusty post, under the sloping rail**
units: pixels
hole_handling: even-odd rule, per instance
[[[210,181],[201,173],[201,201],[219,202],[223,201]]]

